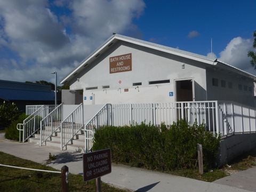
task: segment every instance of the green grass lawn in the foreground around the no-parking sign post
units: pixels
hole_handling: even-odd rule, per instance
[[[0,152],[0,164],[27,167],[30,169],[60,171],[47,165],[31,162],[2,152]],[[68,178],[69,191],[95,191],[94,180],[84,182],[81,175],[75,174],[69,174]],[[103,182],[101,182],[101,190],[109,192],[129,191],[111,187]],[[61,191],[61,174],[0,166],[0,191],[59,192]]]

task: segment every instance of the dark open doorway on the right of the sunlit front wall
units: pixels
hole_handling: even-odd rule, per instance
[[[195,101],[193,79],[175,80],[175,101]]]

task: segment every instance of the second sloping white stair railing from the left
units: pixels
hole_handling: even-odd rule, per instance
[[[40,122],[40,146],[49,140],[58,129],[62,122],[62,103],[45,116]]]

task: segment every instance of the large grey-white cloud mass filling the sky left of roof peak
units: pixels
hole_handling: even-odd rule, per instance
[[[61,79],[113,32],[138,30],[144,9],[142,0],[0,1],[0,78],[49,81],[56,70]]]

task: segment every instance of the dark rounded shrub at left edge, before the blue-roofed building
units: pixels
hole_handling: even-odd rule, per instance
[[[0,105],[0,126],[9,126],[19,115],[19,109],[14,103],[3,101]]]

